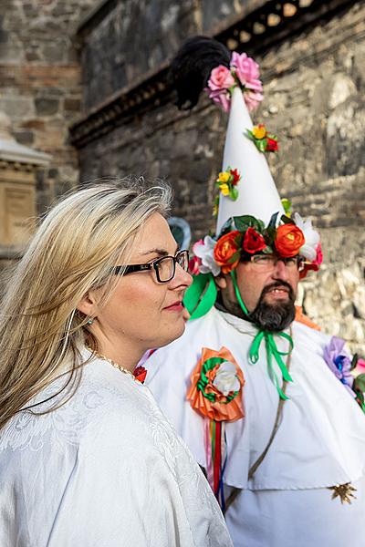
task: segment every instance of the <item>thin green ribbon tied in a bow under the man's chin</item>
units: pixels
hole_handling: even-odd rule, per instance
[[[245,307],[244,301],[242,300],[241,294],[238,289],[237,280],[235,277],[235,270],[231,272],[231,277],[235,286],[235,295],[238,300],[238,303],[240,304],[244,314],[248,315],[247,308]],[[286,380],[287,382],[292,382],[293,378],[289,375],[289,371],[287,370],[287,366],[285,362],[283,361],[282,356],[289,356],[291,352],[293,351],[294,344],[293,344],[293,340],[291,336],[287,335],[287,333],[277,333],[277,336],[281,336],[282,338],[285,338],[287,340],[287,342],[289,343],[288,351],[279,351],[276,346],[274,335],[266,330],[260,329],[258,333],[255,335],[254,341],[250,347],[249,359],[250,359],[250,362],[253,365],[255,365],[255,363],[259,359],[259,351],[260,351],[261,343],[263,340],[265,340],[268,375],[273,380],[275,387],[277,389],[277,393],[279,394],[279,397],[286,400],[288,397],[285,395],[285,393],[280,387],[280,384],[273,366],[273,358],[276,360],[276,364],[280,368],[283,379]]]

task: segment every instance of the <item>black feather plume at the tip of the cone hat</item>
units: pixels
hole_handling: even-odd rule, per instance
[[[189,38],[172,59],[171,76],[177,91],[177,107],[193,108],[213,68],[218,65],[229,67],[230,59],[229,49],[217,40],[205,36]]]

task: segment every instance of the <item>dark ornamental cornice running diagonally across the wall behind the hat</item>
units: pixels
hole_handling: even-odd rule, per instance
[[[318,19],[328,19],[340,10],[354,5],[354,0],[248,0],[245,14],[224,20],[209,33],[229,49],[246,51],[252,56],[264,54],[270,47],[282,43]],[[95,25],[114,0],[103,2],[100,10],[79,28],[85,33],[88,25]],[[251,8],[252,11],[248,12]],[[170,59],[146,73],[132,86],[121,88],[70,128],[70,141],[77,148],[99,139],[110,130],[128,123],[137,114],[151,110],[171,99],[172,85],[168,73]]]

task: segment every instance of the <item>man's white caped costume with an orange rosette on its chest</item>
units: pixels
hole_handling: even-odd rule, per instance
[[[365,416],[323,359],[330,336],[292,325],[289,400],[266,458],[248,480],[248,471],[266,448],[278,405],[265,344],[257,363],[248,362],[256,333],[254,325],[214,308],[150,357],[146,382],[195,459],[206,467],[203,418],[186,400],[190,375],[203,347],[218,351],[225,346],[241,367],[245,418],[225,428],[224,484],[227,493],[229,487],[242,489],[226,513],[235,547],[364,547]],[[287,350],[283,338],[276,336],[276,344]],[[328,488],[347,482],[358,488],[357,499],[341,505],[339,498],[331,499],[333,490]]]

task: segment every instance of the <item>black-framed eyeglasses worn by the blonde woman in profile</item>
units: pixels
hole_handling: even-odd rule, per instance
[[[126,275],[134,274],[135,272],[154,270],[159,283],[168,283],[172,280],[175,274],[176,263],[178,263],[179,266],[187,272],[189,266],[189,251],[179,251],[179,253],[176,253],[175,256],[162,256],[162,258],[158,258],[151,263],[117,266],[113,270],[113,274]]]

